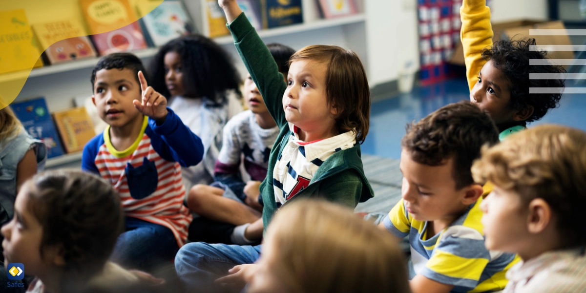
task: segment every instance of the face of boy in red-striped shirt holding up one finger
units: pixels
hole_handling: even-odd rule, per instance
[[[132,104],[142,100],[141,86],[131,69],[101,69],[96,72],[91,100],[98,115],[111,127],[123,127],[142,114]]]

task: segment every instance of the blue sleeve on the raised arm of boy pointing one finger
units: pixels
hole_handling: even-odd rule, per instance
[[[167,117],[161,125],[149,118],[145,132],[151,138],[155,151],[171,162],[178,162],[183,167],[195,166],[202,161],[202,139],[195,135],[180,118],[167,107]],[[149,133],[150,132],[150,133]]]

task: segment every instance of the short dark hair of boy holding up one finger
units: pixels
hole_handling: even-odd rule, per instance
[[[142,74],[145,76],[145,80],[149,83],[149,78],[147,74],[147,70],[145,70],[144,65],[142,65],[141,59],[139,59],[135,54],[131,53],[112,53],[107,54],[104,57],[101,57],[98,64],[91,70],[91,91],[94,91],[94,82],[96,81],[96,72],[102,69],[110,70],[110,69],[130,69],[134,71],[134,79],[137,80],[138,84],[141,82],[138,80],[138,71],[142,71]],[[140,87],[139,87],[140,90]]]

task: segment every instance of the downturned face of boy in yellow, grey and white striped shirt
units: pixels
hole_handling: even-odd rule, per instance
[[[403,173],[401,196],[415,220],[451,223],[454,216],[468,207],[462,202],[466,188],[456,190],[453,165],[453,158],[440,166],[418,163],[411,158],[410,151],[403,149],[399,166]]]

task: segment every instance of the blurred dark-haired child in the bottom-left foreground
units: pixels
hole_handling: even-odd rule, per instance
[[[123,225],[115,190],[81,172],[39,173],[23,184],[14,210],[2,227],[4,267],[22,263],[36,276],[30,292],[81,291],[103,271]]]

